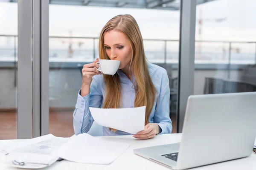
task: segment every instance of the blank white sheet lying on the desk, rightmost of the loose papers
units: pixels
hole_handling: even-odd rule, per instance
[[[68,161],[89,164],[110,164],[131,144],[98,139],[82,133],[59,147],[53,155]]]

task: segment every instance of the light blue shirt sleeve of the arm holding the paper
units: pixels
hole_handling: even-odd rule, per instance
[[[160,93],[157,99],[157,109],[154,113],[154,123],[157,123],[160,127],[160,133],[172,132],[172,121],[170,119],[170,88],[169,78],[165,71],[161,79]]]

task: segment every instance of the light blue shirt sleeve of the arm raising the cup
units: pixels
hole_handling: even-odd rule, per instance
[[[93,76],[93,81],[90,85],[90,93],[87,94],[87,96],[80,95],[81,89],[78,92],[76,108],[73,113],[73,127],[76,135],[79,133],[87,133],[94,122],[89,107],[99,108],[102,105],[102,82],[99,82],[99,78],[96,77],[97,76]]]

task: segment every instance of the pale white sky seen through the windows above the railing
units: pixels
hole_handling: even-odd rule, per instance
[[[256,41],[255,7],[256,0],[215,0],[198,5],[196,40]],[[69,36],[72,30],[72,36],[99,37],[105,23],[117,14],[131,14],[144,39],[179,39],[180,11],[145,8],[50,5],[49,34]],[[0,2],[0,34],[17,35],[17,3]]]

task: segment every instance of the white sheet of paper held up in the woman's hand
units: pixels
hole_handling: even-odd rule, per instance
[[[89,108],[95,122],[105,127],[136,134],[144,130],[145,106],[138,108]]]

